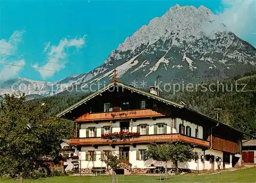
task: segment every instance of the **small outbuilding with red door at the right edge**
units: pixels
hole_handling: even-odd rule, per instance
[[[243,140],[243,163],[256,163],[256,140]]]

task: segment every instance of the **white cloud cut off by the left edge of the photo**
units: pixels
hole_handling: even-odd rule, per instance
[[[8,40],[0,40],[0,63],[4,63],[0,64],[1,81],[17,76],[18,72],[22,70],[25,65],[25,60],[18,58],[16,55],[18,44],[22,42],[22,36],[24,33],[25,31],[14,31]]]

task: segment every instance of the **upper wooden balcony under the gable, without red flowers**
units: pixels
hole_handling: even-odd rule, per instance
[[[85,113],[75,120],[75,122],[118,120],[133,118],[162,117],[163,114],[151,109],[120,110],[114,112]]]

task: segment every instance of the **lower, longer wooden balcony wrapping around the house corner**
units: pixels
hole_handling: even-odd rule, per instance
[[[114,142],[104,140],[101,137],[77,138],[77,139],[70,139],[70,145],[143,144],[143,143],[152,143],[152,142],[174,142],[174,141],[191,143],[191,144],[195,144],[203,147],[210,146],[209,141],[196,139],[191,136],[186,136],[180,133],[141,135],[139,136],[139,138],[136,138],[136,139],[118,140]]]

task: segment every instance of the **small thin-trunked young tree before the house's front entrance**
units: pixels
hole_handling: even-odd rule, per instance
[[[112,169],[112,182],[115,183],[115,170],[119,168],[122,158],[120,158],[119,152],[108,151],[105,154],[105,158],[101,158],[101,162],[104,162],[107,167]]]

